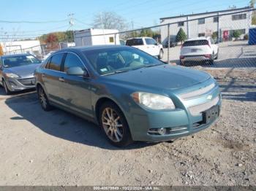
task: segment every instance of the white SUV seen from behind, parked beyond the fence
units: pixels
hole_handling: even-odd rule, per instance
[[[211,37],[188,39],[181,47],[180,63],[194,61],[213,64],[218,54],[219,47]]]

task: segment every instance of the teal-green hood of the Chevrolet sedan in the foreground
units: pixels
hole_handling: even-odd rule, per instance
[[[119,82],[121,85],[137,85],[140,87],[160,88],[162,90],[174,90],[204,82],[211,76],[203,71],[166,64],[108,75],[106,77],[111,82]]]

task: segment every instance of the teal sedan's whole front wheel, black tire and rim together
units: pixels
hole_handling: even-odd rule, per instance
[[[115,147],[125,147],[132,144],[129,125],[123,112],[113,102],[105,102],[99,109],[99,125],[110,144]]]

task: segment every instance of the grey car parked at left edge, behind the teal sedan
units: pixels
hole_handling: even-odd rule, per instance
[[[18,90],[35,87],[34,70],[41,61],[34,55],[2,55],[0,57],[0,85],[5,93],[10,94]]]

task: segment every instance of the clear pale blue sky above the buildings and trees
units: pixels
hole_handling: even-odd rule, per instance
[[[233,5],[246,7],[249,0],[1,0],[0,3],[1,41],[13,34],[26,38],[67,31],[70,13],[76,19],[75,30],[91,28],[94,15],[99,12],[116,12],[129,28],[132,22],[134,28],[142,28],[158,24],[160,17],[217,11]]]

